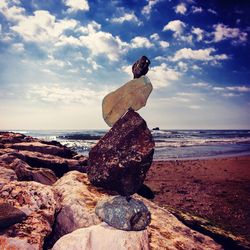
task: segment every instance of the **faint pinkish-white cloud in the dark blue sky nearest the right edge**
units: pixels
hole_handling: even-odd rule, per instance
[[[214,42],[220,42],[226,39],[235,39],[235,42],[244,43],[247,41],[247,33],[240,31],[239,28],[229,28],[224,24],[216,24],[213,26]]]

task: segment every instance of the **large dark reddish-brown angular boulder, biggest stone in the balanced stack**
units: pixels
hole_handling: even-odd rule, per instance
[[[152,163],[154,141],[146,122],[129,110],[89,152],[92,184],[121,195],[135,193]]]

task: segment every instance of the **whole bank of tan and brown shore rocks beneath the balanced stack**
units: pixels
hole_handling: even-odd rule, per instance
[[[0,248],[225,249],[138,194],[133,198],[149,209],[150,225],[142,231],[108,226],[95,206],[117,193],[93,186],[87,165],[58,142],[1,132]]]

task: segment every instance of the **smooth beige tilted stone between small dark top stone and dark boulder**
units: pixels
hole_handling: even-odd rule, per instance
[[[106,95],[102,102],[104,121],[112,127],[129,108],[139,110],[147,103],[153,86],[147,76],[127,82],[117,90]]]

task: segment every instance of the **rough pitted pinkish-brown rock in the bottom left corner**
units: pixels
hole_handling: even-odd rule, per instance
[[[0,249],[43,249],[57,210],[51,188],[37,182],[13,181],[0,189],[0,203],[3,202],[20,209],[28,217],[1,232]]]

